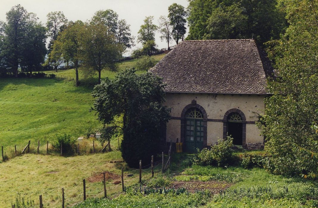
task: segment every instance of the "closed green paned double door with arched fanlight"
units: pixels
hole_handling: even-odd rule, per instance
[[[185,112],[185,149],[194,152],[203,149],[204,116],[198,108],[190,108]]]

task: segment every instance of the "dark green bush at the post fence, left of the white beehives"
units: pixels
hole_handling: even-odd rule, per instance
[[[58,134],[56,139],[51,142],[54,150],[60,151],[62,144],[62,153],[63,154],[73,154],[75,147],[76,139],[71,138],[68,134]]]

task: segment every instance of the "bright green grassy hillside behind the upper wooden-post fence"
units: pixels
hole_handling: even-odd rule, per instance
[[[164,55],[154,57],[159,61]],[[121,62],[119,68],[130,68],[135,62],[136,59]],[[75,71],[60,70],[57,74],[74,77]],[[102,78],[114,76],[115,72],[102,72]],[[0,146],[13,148],[17,144],[21,150],[28,140],[44,143],[56,133],[77,138],[88,129],[98,129],[99,122],[88,111],[93,104],[92,90],[93,84],[75,87],[74,82],[59,79],[0,79]]]

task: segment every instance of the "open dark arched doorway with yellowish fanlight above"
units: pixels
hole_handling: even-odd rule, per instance
[[[243,124],[239,113],[232,112],[227,116],[227,133],[232,136],[234,145],[243,144]]]

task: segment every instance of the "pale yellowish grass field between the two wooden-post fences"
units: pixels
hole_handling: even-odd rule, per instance
[[[102,170],[121,174],[121,167],[124,167],[125,186],[138,182],[139,170],[129,169],[125,163],[109,163],[112,160],[122,160],[121,152],[115,150],[75,157],[26,154],[0,163],[0,207],[11,207],[11,203],[15,203],[18,196],[17,192],[25,200],[34,200],[35,207],[39,205],[39,195],[43,196],[45,207],[61,207],[62,187],[65,190],[66,205],[74,205],[83,200],[84,178],[87,198],[102,197],[102,178],[96,182],[89,182],[90,177],[103,172]],[[156,169],[156,172],[159,169]],[[134,173],[134,176],[126,177],[130,173]],[[144,179],[149,179],[150,176],[149,170],[143,171]],[[111,182],[106,183],[109,196],[122,191],[121,184],[114,185]]]

